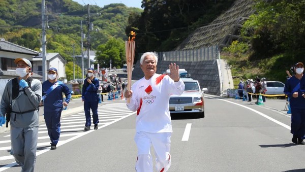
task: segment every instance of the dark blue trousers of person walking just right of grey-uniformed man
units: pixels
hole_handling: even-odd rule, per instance
[[[62,109],[52,112],[44,112],[44,119],[48,128],[48,134],[52,145],[57,145],[60,135],[60,117]]]

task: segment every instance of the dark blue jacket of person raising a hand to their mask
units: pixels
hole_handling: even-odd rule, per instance
[[[87,78],[84,80],[82,87],[81,99],[84,101],[99,101],[98,89],[100,82],[97,78],[91,80],[91,84],[88,83]]]

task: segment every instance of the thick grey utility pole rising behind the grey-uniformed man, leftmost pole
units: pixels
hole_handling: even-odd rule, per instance
[[[45,0],[41,2],[41,20],[42,20],[42,82],[47,80],[47,42],[46,42],[46,10]]]

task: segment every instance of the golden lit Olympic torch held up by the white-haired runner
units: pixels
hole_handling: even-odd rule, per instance
[[[130,37],[128,37],[128,41],[125,41],[125,50],[126,50],[126,63],[127,63],[127,89],[131,90],[131,76],[132,76],[132,68],[133,62],[135,58],[135,50],[136,50],[136,33],[134,31],[130,32]],[[127,98],[127,103],[130,103],[130,98]]]

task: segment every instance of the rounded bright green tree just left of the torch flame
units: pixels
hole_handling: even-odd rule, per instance
[[[96,60],[102,67],[120,68],[126,63],[125,42],[121,39],[110,39],[97,48]]]

